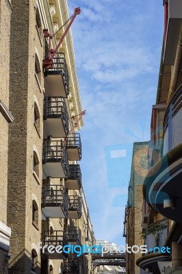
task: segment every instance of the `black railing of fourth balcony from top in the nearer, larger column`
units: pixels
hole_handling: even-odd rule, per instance
[[[64,186],[45,185],[42,186],[42,208],[62,206],[64,214],[68,214],[68,195]]]

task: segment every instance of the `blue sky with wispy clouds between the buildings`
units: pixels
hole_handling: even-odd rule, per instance
[[[150,136],[164,32],[162,2],[68,0],[70,14],[81,8],[72,34],[86,110],[80,132],[83,186],[96,239],[118,245],[125,242],[133,142]]]

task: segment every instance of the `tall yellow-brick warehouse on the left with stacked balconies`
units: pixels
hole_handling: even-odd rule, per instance
[[[79,166],[83,116],[70,31],[53,68],[42,66],[49,48],[43,29],[54,34],[64,25],[67,1],[0,3],[0,273],[92,273],[90,255],[48,250],[94,238]]]

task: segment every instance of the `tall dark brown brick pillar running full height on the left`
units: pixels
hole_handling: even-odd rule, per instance
[[[29,58],[29,1],[12,0],[10,25],[10,111],[14,123],[9,127],[8,147],[8,225],[10,273],[25,273],[31,254],[25,250],[26,179],[27,179],[27,88]],[[27,272],[28,273],[28,272]]]

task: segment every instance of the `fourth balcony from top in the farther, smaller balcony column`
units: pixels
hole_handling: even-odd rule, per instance
[[[68,244],[81,245],[81,232],[79,227],[67,227],[64,230],[64,234],[68,240]]]

